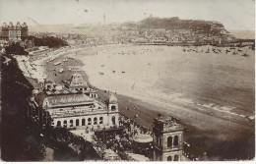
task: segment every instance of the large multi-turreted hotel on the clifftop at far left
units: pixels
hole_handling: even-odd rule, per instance
[[[9,26],[4,23],[1,31],[1,39],[4,40],[20,41],[28,37],[28,26],[26,23],[21,25],[20,22],[18,22],[16,26],[14,26],[12,22],[10,22]]]

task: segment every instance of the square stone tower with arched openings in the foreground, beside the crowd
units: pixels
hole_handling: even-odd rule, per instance
[[[180,161],[183,151],[183,127],[173,117],[155,118],[153,145],[155,161]]]

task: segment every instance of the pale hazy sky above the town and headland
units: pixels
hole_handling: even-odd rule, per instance
[[[153,17],[218,21],[254,30],[254,0],[0,0],[0,26],[124,23]]]

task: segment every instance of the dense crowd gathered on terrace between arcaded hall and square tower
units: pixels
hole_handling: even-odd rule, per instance
[[[122,160],[131,160],[127,153],[142,154],[152,159],[153,143],[134,141],[134,137],[146,134],[152,136],[152,132],[122,115],[119,118],[119,127],[119,129],[95,132],[94,145],[99,153],[105,149],[112,149]]]

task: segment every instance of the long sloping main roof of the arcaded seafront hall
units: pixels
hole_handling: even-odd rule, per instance
[[[83,104],[86,102],[94,102],[94,99],[86,94],[67,94],[67,95],[53,95],[47,96],[45,101],[48,101],[52,107],[62,105]]]

